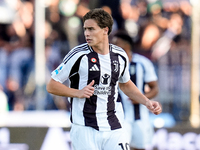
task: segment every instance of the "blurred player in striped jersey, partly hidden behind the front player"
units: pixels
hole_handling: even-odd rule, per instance
[[[129,72],[131,80],[144,95],[152,99],[158,94],[157,75],[152,62],[133,53],[132,38],[125,31],[118,31],[112,38],[112,43],[123,48],[129,58]],[[149,90],[145,92],[145,85]],[[153,126],[149,120],[149,110],[138,102],[130,101],[123,92],[120,92],[124,106],[126,129],[129,135],[131,150],[145,150],[153,138]]]

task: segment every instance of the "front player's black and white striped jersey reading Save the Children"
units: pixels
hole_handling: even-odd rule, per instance
[[[130,80],[129,61],[123,49],[109,45],[110,53],[96,53],[87,43],[73,48],[52,72],[58,82],[70,81],[70,87],[83,89],[92,80],[94,94],[87,98],[71,98],[71,121],[100,131],[121,128],[123,108],[118,97],[118,83]]]

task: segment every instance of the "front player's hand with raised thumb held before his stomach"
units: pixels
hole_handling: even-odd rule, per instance
[[[87,86],[85,86],[82,90],[79,91],[78,97],[79,98],[90,98],[90,96],[94,93],[94,80],[90,82]]]

